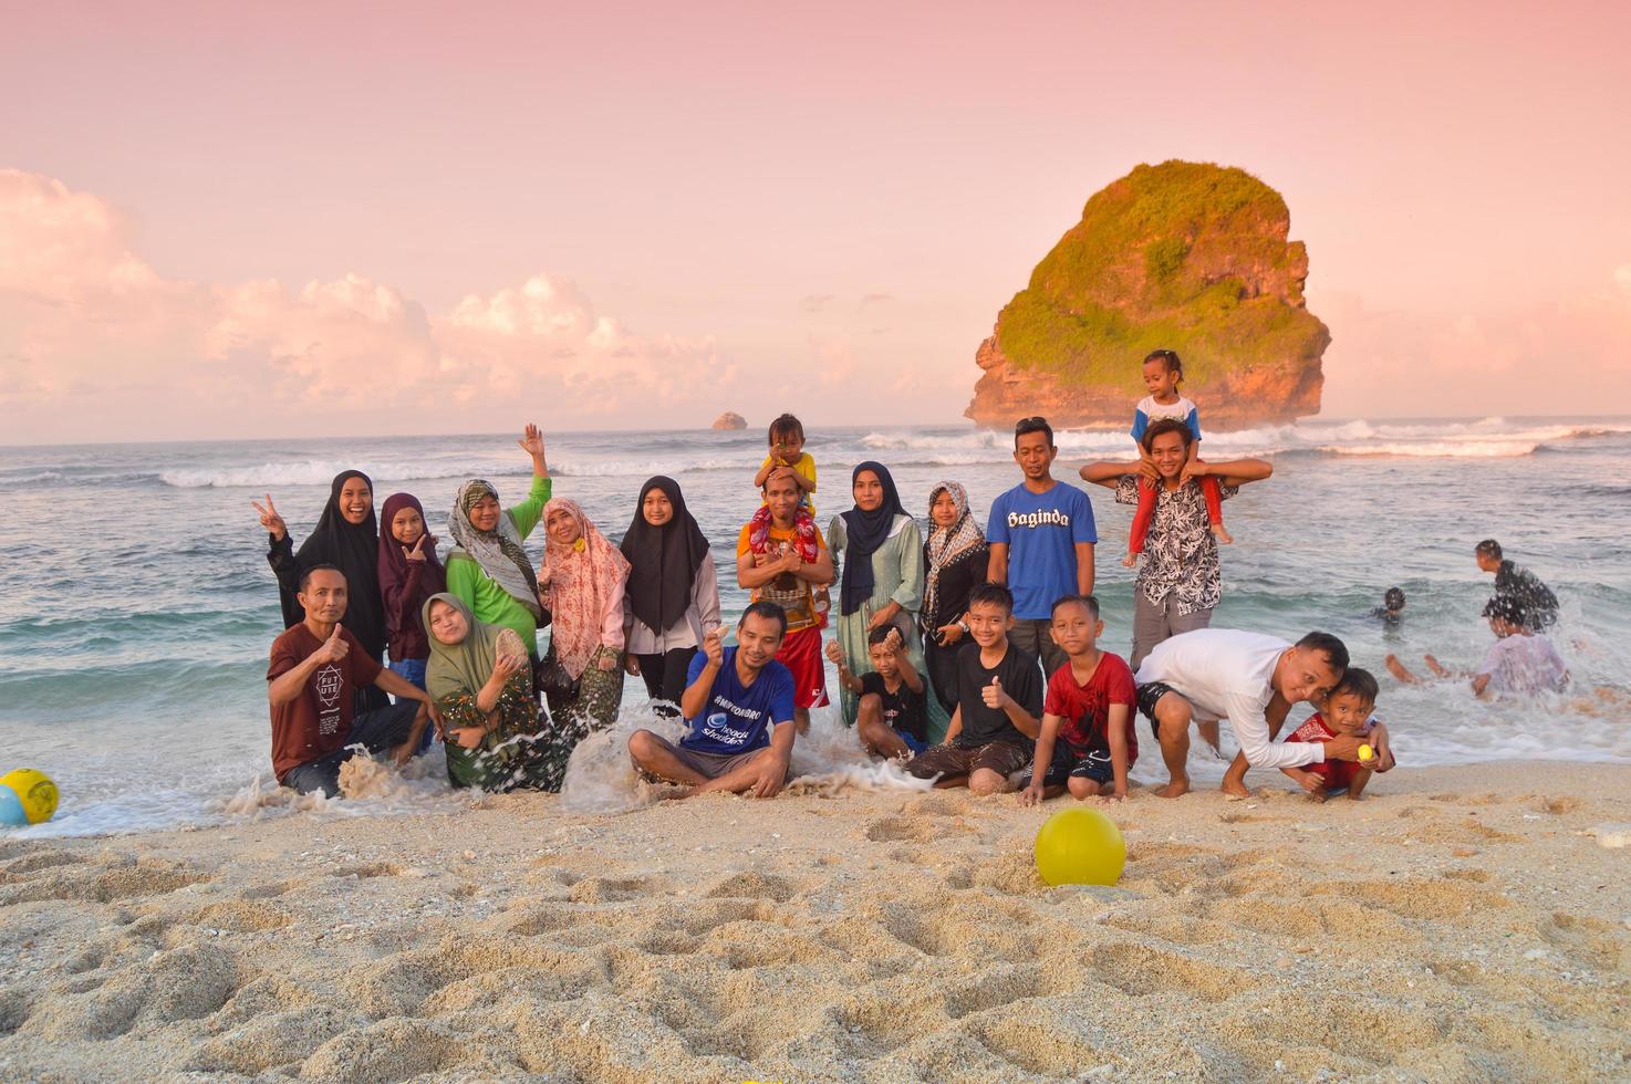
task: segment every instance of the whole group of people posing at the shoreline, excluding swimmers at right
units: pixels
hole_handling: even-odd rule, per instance
[[[1227,719],[1241,753],[1225,791],[1243,794],[1248,768],[1272,766],[1319,797],[1357,797],[1393,765],[1370,712],[1375,678],[1323,632],[1293,644],[1209,628],[1218,544],[1231,541],[1222,502],[1272,468],[1202,460],[1197,411],[1178,394],[1181,360],[1156,350],[1143,368],[1138,458],[1080,469],[1137,507],[1130,660],[1098,647],[1093,505],[1054,478],[1059,448],[1042,417],[1016,424],[1021,481],[985,527],[966,489],[941,481],[920,505],[926,535],[876,461],[855,466],[853,505],[824,531],[802,425],[778,417],[755,474],[760,504],[736,540],[750,605],[732,646],[709,541],[680,486],[649,479],[613,544],[553,496],[543,437],[528,425],[527,497],[506,509],[493,484],[466,481],[444,557],[411,494],[390,496],[377,522],[360,471],[334,479],[298,548],[271,497],[256,502],[287,626],[267,668],[277,778],[333,795],[357,751],[406,763],[440,740],[455,786],[559,789],[572,748],[615,722],[626,673],[685,724],[677,742],[630,737],[638,773],[682,792],[773,795],[811,709],[829,704],[830,660],[860,745],[936,786],[1021,789],[1026,802],[1124,797],[1143,714],[1168,769],[1163,795],[1189,789],[1191,725],[1217,747]],[[533,564],[525,543],[540,525]],[[1319,714],[1275,743],[1298,701]]]

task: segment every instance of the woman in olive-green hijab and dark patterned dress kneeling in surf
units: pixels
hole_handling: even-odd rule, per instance
[[[559,791],[582,734],[545,732],[515,629],[476,621],[450,593],[424,603],[426,690],[442,711],[447,778],[483,791]]]

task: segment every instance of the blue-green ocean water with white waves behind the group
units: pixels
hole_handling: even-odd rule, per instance
[[[1119,432],[1063,432],[1059,445],[1055,476],[1072,481],[1085,461],[1132,452]],[[861,460],[891,466],[920,517],[938,479],[964,483],[982,518],[1018,481],[1011,438],[961,424],[812,429],[807,447],[820,468],[822,523],[850,505],[848,474]],[[644,478],[680,481],[714,543],[727,615],[745,598],[736,588],[734,541],[757,505],[752,474],[763,453],[758,429],[548,434],[555,492],[577,499],[612,538],[628,527]],[[1223,549],[1225,597],[1213,624],[1342,636],[1355,662],[1381,676],[1378,711],[1403,763],[1631,761],[1631,419],[1308,421],[1217,434],[1207,453],[1259,455],[1275,468],[1225,505],[1238,543]],[[41,768],[62,791],[54,822],[10,835],[468,800],[418,781],[393,799],[318,804],[316,812],[267,804],[264,670],[279,610],[250,500],[272,494],[295,538],[305,538],[329,479],[351,466],[372,474],[377,500],[398,489],[416,494],[442,538],[462,479],[488,478],[501,497],[519,499],[530,471],[506,434],[0,448],[0,771]],[[1106,646],[1125,654],[1132,572],[1119,559],[1130,510],[1106,489],[1086,489],[1101,536]],[[1460,683],[1403,688],[1383,673],[1386,652],[1412,665],[1424,650],[1452,667],[1483,657],[1492,637],[1478,615],[1491,577],[1471,551],[1486,536],[1559,595],[1554,639],[1574,673],[1569,694],[1486,704]],[[535,536],[530,549],[540,546]],[[1365,613],[1395,584],[1409,610],[1399,629],[1385,631]],[[630,722],[648,717],[644,699],[644,686],[630,680]],[[833,766],[830,722],[817,725],[825,737],[796,768]],[[617,771],[617,755],[599,750],[595,760]],[[1158,761],[1150,747],[1135,778],[1156,778]],[[1204,765],[1200,776],[1217,771]],[[1267,773],[1253,779],[1272,782]]]

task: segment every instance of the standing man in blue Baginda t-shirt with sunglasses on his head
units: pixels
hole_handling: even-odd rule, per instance
[[[1070,662],[1049,634],[1054,603],[1093,593],[1093,544],[1099,540],[1088,494],[1054,479],[1057,456],[1047,419],[1021,419],[1014,425],[1014,463],[1024,481],[992,502],[985,527],[992,546],[985,579],[1006,584],[1014,595],[1008,641],[1039,657],[1049,675]]]

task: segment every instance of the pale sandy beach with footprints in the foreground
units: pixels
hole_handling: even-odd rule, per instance
[[[1116,888],[956,791],[8,841],[0,1077],[1631,1074],[1631,768],[1253,781],[1116,807]]]

